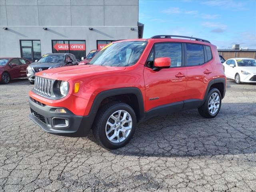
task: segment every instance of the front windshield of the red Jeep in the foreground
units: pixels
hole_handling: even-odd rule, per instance
[[[117,67],[132,66],[140,58],[146,44],[146,41],[110,43],[96,54],[89,64]]]

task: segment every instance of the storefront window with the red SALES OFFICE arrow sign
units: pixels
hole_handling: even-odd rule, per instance
[[[53,53],[72,53],[81,60],[86,55],[85,40],[52,40]]]

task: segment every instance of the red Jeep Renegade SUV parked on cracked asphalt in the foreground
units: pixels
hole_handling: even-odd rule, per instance
[[[225,91],[217,48],[207,40],[120,40],[88,65],[38,72],[29,117],[52,134],[86,136],[92,128],[100,145],[116,149],[131,140],[142,119],[194,108],[214,118]]]

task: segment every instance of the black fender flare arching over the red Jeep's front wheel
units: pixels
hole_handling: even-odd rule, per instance
[[[117,96],[117,95],[123,95],[123,94],[134,94],[138,100],[138,107],[139,107],[139,120],[143,119],[145,117],[145,110],[144,110],[144,100],[142,97],[142,92],[139,88],[136,87],[125,87],[125,88],[115,88],[110,89],[106,91],[102,91],[96,95],[94,98],[94,101],[92,103],[91,109],[90,109],[90,116],[94,119],[98,109],[100,108],[100,103],[108,97],[111,96]]]

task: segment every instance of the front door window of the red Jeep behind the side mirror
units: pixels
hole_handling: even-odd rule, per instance
[[[181,43],[159,43],[155,44],[155,58],[171,58],[171,67],[180,67],[182,63]]]

